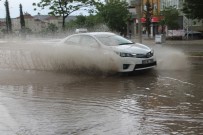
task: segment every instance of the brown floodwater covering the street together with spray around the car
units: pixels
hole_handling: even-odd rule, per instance
[[[203,134],[203,63],[181,51],[155,47],[155,69],[120,75],[113,54],[0,44],[1,135]]]

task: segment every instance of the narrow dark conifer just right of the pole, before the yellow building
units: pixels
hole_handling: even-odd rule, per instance
[[[152,18],[152,13],[153,13],[153,7],[150,4],[149,0],[146,1],[145,7],[146,7],[146,10],[144,10],[143,13],[145,14],[145,18],[146,18],[146,31],[147,31],[147,35],[149,37],[151,18]]]

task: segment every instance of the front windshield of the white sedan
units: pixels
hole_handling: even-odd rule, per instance
[[[134,44],[132,41],[118,35],[95,35],[99,41],[107,46]]]

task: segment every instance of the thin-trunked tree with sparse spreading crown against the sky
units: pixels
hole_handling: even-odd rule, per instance
[[[33,3],[33,6],[42,9],[49,7],[50,15],[62,16],[62,28],[64,29],[66,17],[81,8],[92,6],[93,4],[94,0],[41,0],[39,3]]]

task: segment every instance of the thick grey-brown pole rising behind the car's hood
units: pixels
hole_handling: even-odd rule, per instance
[[[138,19],[138,36],[139,36],[139,43],[142,43],[142,0],[136,0],[135,10],[137,12],[137,19]]]

